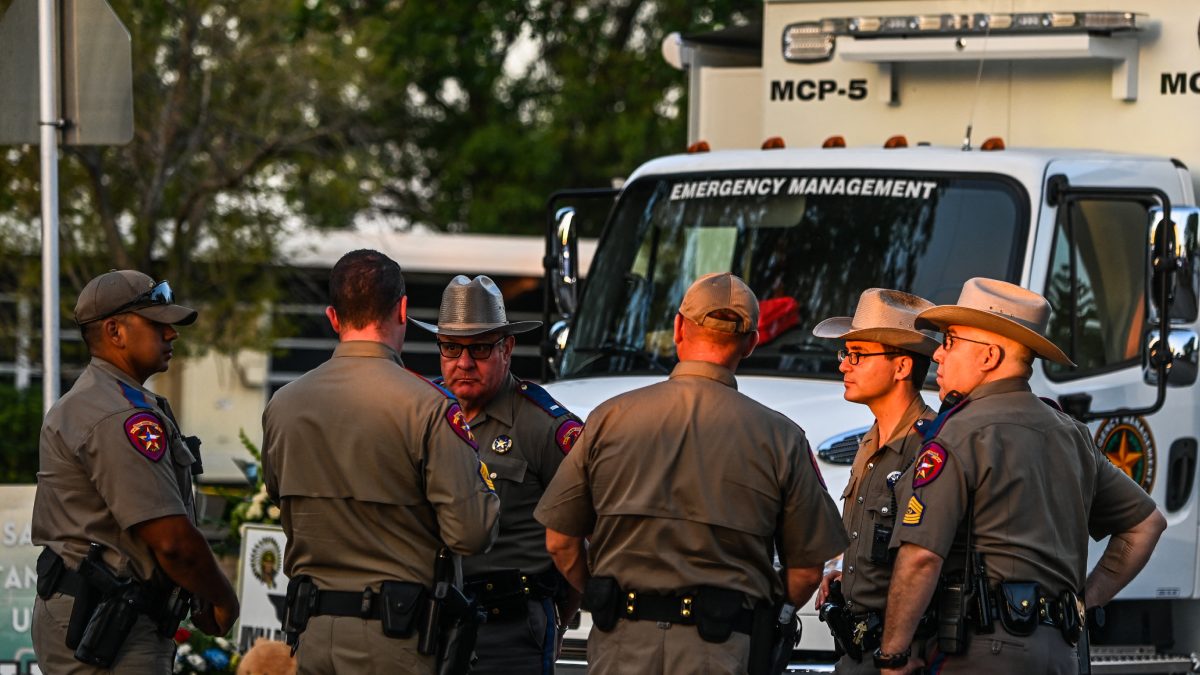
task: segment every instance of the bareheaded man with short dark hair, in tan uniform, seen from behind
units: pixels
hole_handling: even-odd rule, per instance
[[[263,414],[263,470],[288,543],[288,628],[301,673],[430,674],[424,602],[442,546],[496,537],[499,500],[454,396],[404,369],[408,298],[378,251],[334,265],[334,357]]]

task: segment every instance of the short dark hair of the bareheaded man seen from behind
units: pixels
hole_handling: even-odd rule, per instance
[[[383,323],[403,297],[400,265],[379,251],[350,251],[329,275],[329,304],[347,328]]]

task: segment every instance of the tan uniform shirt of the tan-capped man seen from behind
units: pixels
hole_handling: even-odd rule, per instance
[[[773,544],[785,567],[846,548],[804,432],[704,362],[600,405],[534,515],[590,536],[592,574],[644,592],[713,585],[778,599]]]

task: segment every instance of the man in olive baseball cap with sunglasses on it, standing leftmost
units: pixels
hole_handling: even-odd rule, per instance
[[[221,635],[238,619],[238,597],[196,528],[199,458],[167,399],[144,387],[167,370],[175,325],[193,323],[196,311],[174,304],[166,281],[120,270],[84,286],[74,321],[91,362],[42,424],[32,537],[46,549],[34,651],[44,673],[107,673],[98,655],[109,649],[114,673],[170,673],[187,604],[178,587],[193,595],[192,621],[202,631]],[[96,575],[80,574],[82,566]],[[128,629],[109,626],[124,635],[119,649],[119,639],[86,643],[85,664],[76,647],[101,614],[97,605],[115,597],[102,585],[114,579],[136,593],[128,597],[137,598],[137,617]]]

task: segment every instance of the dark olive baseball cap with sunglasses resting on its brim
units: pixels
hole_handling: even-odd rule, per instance
[[[166,281],[155,282],[133,269],[110,270],[83,287],[76,301],[76,323],[83,325],[113,315],[132,312],[158,323],[188,325],[196,310],[174,304]]]

